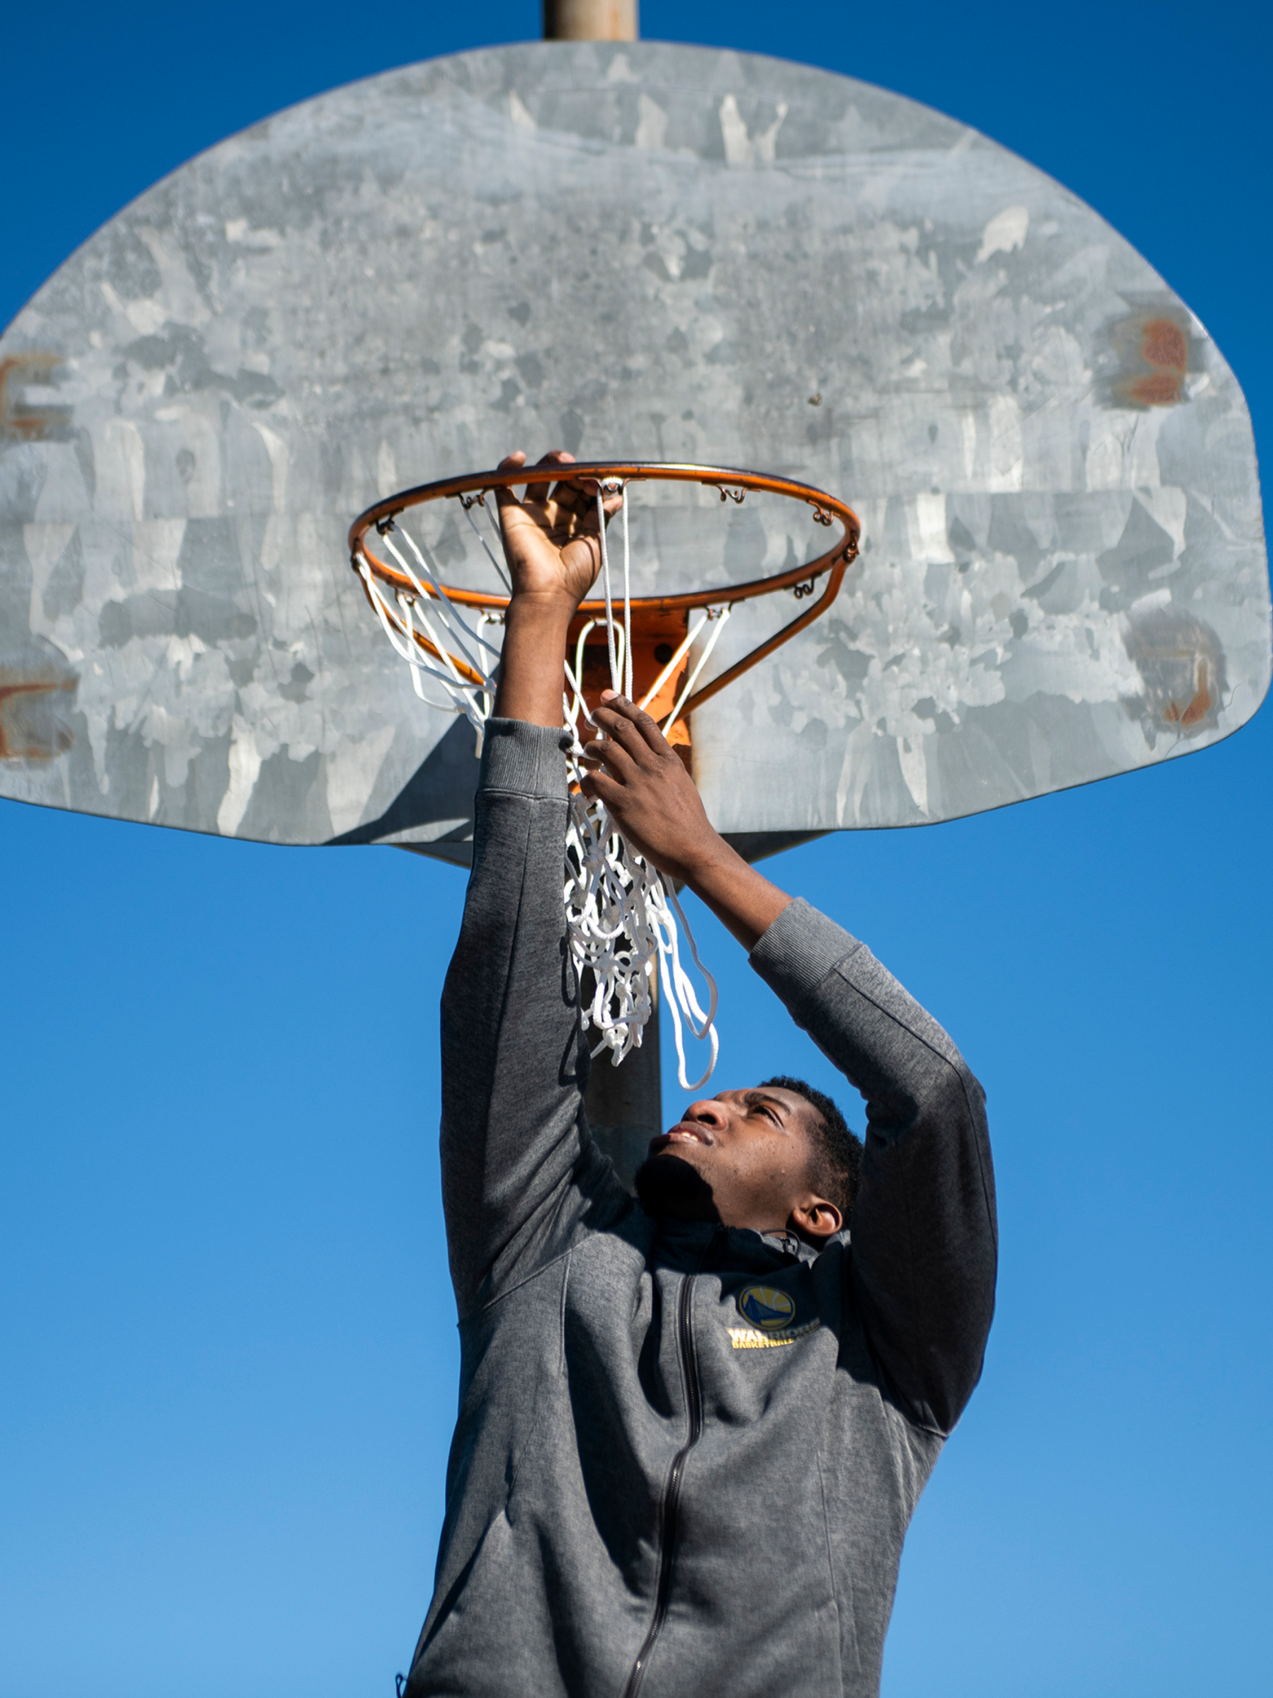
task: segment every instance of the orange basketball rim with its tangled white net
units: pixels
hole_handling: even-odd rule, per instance
[[[816,559],[784,567],[769,577],[743,584],[672,596],[633,596],[630,584],[628,487],[636,482],[689,482],[715,489],[721,503],[740,504],[749,491],[782,496],[811,508],[818,525],[838,521],[840,535]],[[362,579],[367,599],[394,650],[411,667],[416,694],[429,706],[465,713],[477,728],[479,752],[482,728],[491,715],[496,693],[499,644],[491,637],[502,623],[511,599],[504,565],[491,540],[477,525],[474,509],[485,514],[494,542],[502,552],[499,520],[487,504],[496,489],[530,484],[594,482],[597,487],[597,530],[601,543],[601,582],[604,599],[584,601],[570,623],[567,649],[562,722],[574,737],[570,751],[570,827],[565,857],[565,912],[570,949],[582,975],[592,973],[594,995],[582,1010],[584,1029],[599,1034],[592,1054],[611,1051],[618,1066],[630,1049],[638,1048],[642,1031],[653,1010],[652,975],[655,959],[664,983],[676,1031],[681,1085],[698,1090],[716,1065],[715,1029],[716,985],[698,956],[694,937],[676,891],[664,885],[655,868],[628,849],[621,834],[599,801],[587,801],[580,791],[582,740],[580,715],[592,723],[601,691],[623,691],[640,708],[662,722],[664,735],[689,766],[689,718],[696,708],[742,678],[782,644],[811,625],[835,601],[844,574],[857,557],[861,526],[842,501],[808,484],[765,472],[737,472],[716,465],[669,465],[660,462],[570,462],[552,467],[514,467],[496,472],[470,472],[387,496],[350,526],[350,562]],[[621,496],[623,596],[621,620],[611,582],[606,537],[604,498]],[[460,589],[445,584],[419,542],[399,521],[412,508],[431,501],[457,499],[479,537],[491,565],[502,579],[506,594]],[[368,535],[384,538],[384,548],[395,565],[368,547]],[[399,548],[395,538],[406,545]],[[409,559],[411,557],[411,559]],[[412,564],[414,560],[414,564]],[[793,591],[796,601],[811,599],[818,579],[827,582],[816,601],[749,654],[725,667],[716,678],[698,684],[733,608],[760,596]],[[589,637],[597,640],[589,644]],[[604,637],[604,647],[601,638]],[[424,686],[440,686],[448,700],[431,700]],[[698,686],[698,688],[696,688]],[[708,1009],[699,1005],[689,975],[681,966],[677,920],[686,932],[694,964],[708,983]],[[696,1037],[711,1043],[711,1061],[703,1078],[691,1085],[686,1075],[681,1015]]]

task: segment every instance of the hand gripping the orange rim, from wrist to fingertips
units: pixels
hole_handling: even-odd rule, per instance
[[[499,462],[499,470],[524,464],[526,455],[518,450]],[[574,465],[574,455],[555,448],[540,465]],[[511,489],[496,491],[496,499],[513,596],[560,599],[574,615],[601,571],[596,482],[528,484],[521,501]],[[621,499],[606,498],[606,518],[618,511]]]

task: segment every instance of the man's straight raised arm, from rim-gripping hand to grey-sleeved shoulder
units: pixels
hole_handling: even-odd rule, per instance
[[[562,905],[562,669],[599,564],[596,499],[564,484],[531,486],[523,503],[502,491],[501,523],[513,598],[441,997],[441,1180],[462,1316],[536,1255],[582,1151],[586,1046]]]

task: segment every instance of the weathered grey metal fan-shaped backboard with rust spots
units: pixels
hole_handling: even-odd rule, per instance
[[[19,314],[0,419],[27,801],[463,859],[472,732],[416,701],[345,533],[509,447],[859,511],[832,613],[696,715],[723,830],[952,818],[1215,742],[1268,688],[1251,426],[1202,324],[1022,160],[774,59],[514,46],[268,119]],[[781,513],[691,518],[660,588],[803,559]],[[713,666],[789,616],[740,610]]]

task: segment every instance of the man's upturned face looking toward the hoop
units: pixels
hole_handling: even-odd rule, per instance
[[[810,1102],[776,1085],[704,1097],[650,1141],[640,1199],[652,1214],[781,1233],[815,1195],[813,1119]]]

